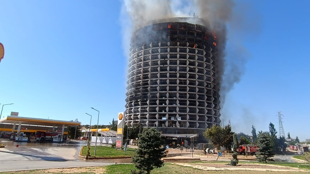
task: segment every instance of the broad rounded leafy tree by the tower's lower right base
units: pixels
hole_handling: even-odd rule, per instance
[[[230,149],[233,143],[233,134],[230,125],[226,125],[224,128],[213,125],[203,132],[203,136],[209,139],[217,149],[220,149],[220,146]]]

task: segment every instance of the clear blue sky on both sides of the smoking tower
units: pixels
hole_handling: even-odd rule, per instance
[[[230,119],[234,131],[250,134],[251,125],[268,131],[272,122],[279,131],[282,111],[285,134],[310,138],[310,1],[251,3],[258,32],[244,43],[249,58],[221,110],[224,123]],[[4,106],[2,117],[13,111],[89,124],[89,113],[95,124],[93,107],[99,124],[108,124],[124,111],[121,8],[120,0],[1,1],[0,107],[15,103]]]

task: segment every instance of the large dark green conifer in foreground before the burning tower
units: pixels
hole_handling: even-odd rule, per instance
[[[164,161],[161,158],[165,157],[165,148],[160,148],[162,145],[160,132],[155,128],[146,129],[139,134],[138,140],[139,147],[136,150],[136,155],[132,157],[137,169],[140,171],[146,171],[150,174],[150,171],[162,167]]]

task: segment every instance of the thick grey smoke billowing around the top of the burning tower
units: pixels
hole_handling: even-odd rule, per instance
[[[230,36],[228,27],[234,28],[233,32],[243,32],[242,26],[246,26],[243,24],[243,14],[240,14],[242,12],[234,12],[234,7],[233,0],[124,0],[121,18],[125,55],[127,57],[129,54],[130,36],[133,31],[146,26],[147,22],[169,17],[193,17],[195,13],[206,22],[206,27],[214,31],[213,34],[217,38],[217,80],[221,95],[220,105],[223,106],[226,94],[240,81],[247,60],[244,58],[246,50],[242,41],[237,41],[238,39],[233,44],[233,54],[229,55],[226,52],[226,43]],[[236,16],[237,22],[234,18]],[[238,54],[235,54],[236,52]]]

